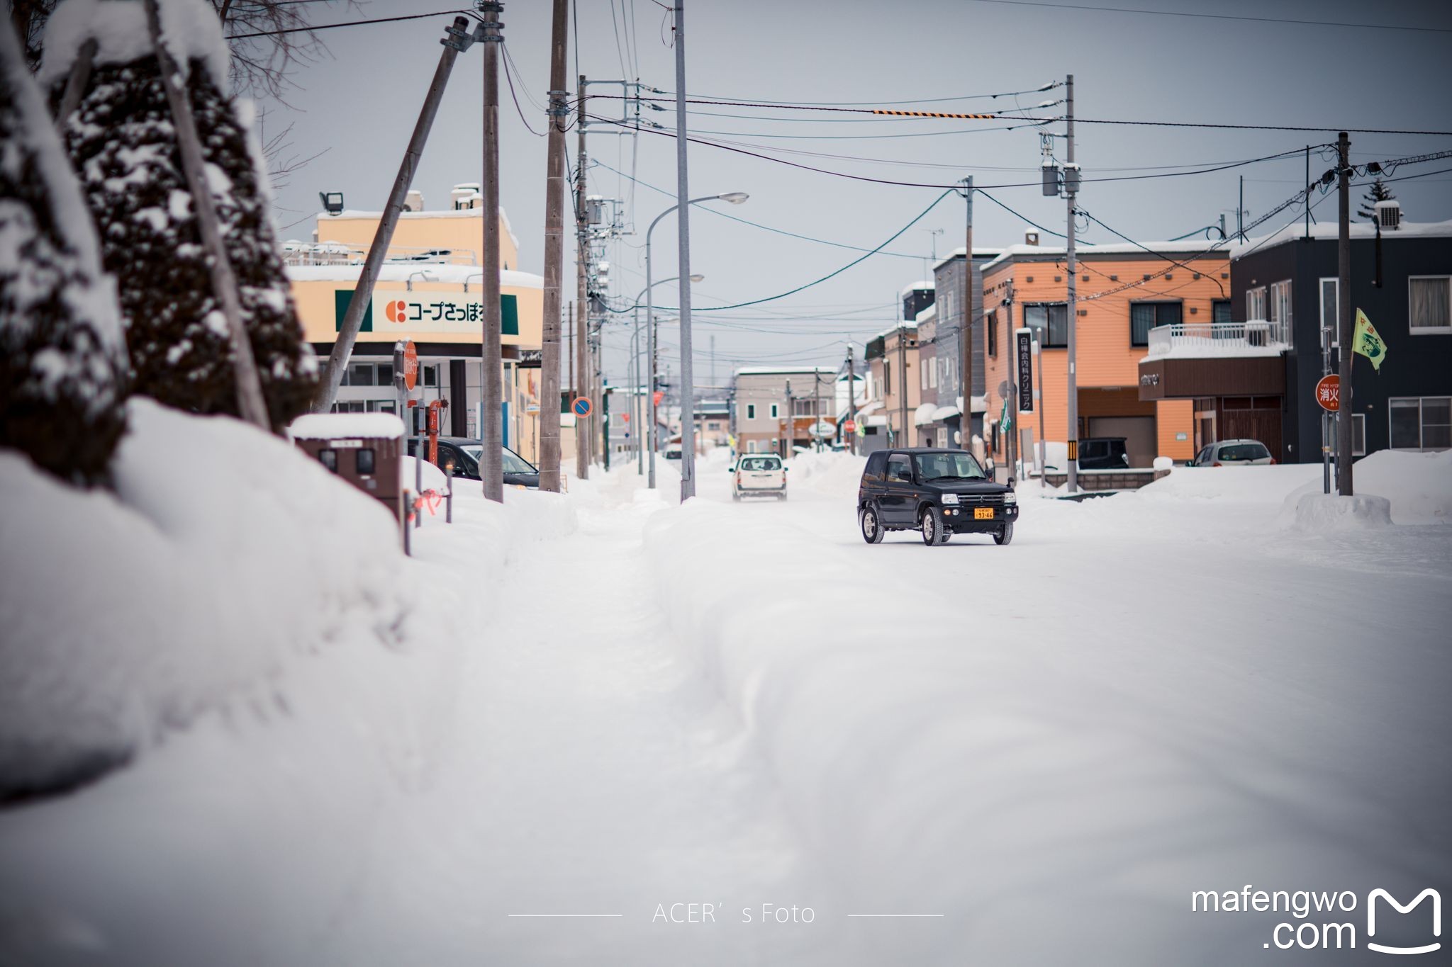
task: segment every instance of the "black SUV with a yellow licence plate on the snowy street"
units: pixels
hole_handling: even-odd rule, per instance
[[[954,534],[992,534],[996,544],[1008,544],[1018,496],[1012,486],[989,480],[966,449],[880,449],[867,458],[857,519],[868,544],[887,531],[919,531],[928,547]]]

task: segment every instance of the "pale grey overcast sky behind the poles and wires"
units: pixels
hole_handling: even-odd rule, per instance
[[[619,80],[639,77],[675,88],[666,10],[656,0],[576,0],[578,38],[571,38],[569,88],[575,75]],[[321,6],[321,4],[319,4]],[[318,23],[444,10],[372,0],[354,10],[328,9]],[[1195,10],[1228,17],[1314,20],[1316,26],[1247,19],[1119,13],[1006,0],[687,0],[687,91],[693,97],[761,99],[793,103],[855,101],[889,107],[984,112],[1059,100],[1063,88],[1006,99],[964,99],[1022,91],[1074,74],[1076,116],[1111,120],[1176,120],[1282,126],[1452,130],[1452,4],[1382,0],[1231,0],[1179,4],[1170,0],[1102,0],[1102,6]],[[520,70],[520,106],[543,132],[549,87],[549,0],[513,0],[502,14],[505,45]],[[439,38],[450,20],[436,19],[340,28],[322,32],[331,57],[302,67],[287,104],[267,107],[267,130],[295,122],[293,152],[325,149],[292,175],[277,196],[283,238],[308,238],[321,190],[343,191],[350,207],[382,207],[439,58]],[[1403,25],[1414,30],[1350,25]],[[614,26],[613,26],[614,25]],[[617,42],[619,36],[619,42]],[[578,70],[576,70],[578,58]],[[482,64],[479,46],[463,54],[449,87],[414,187],[428,207],[447,206],[449,188],[481,175]],[[543,268],[544,148],[510,100],[501,78],[501,197],[520,239],[520,268]],[[594,87],[591,93],[619,93]],[[669,104],[662,104],[671,107]],[[1056,106],[1040,112],[1056,116]],[[592,113],[619,116],[619,101],[592,101]],[[648,112],[674,126],[672,112]],[[836,173],[928,184],[950,184],[973,174],[979,186],[1035,181],[1038,130],[1003,130],[999,122],[899,120],[870,115],[696,106],[690,116],[698,136],[730,139],[749,151],[770,152]],[[633,233],[614,245],[613,290],[632,300],[645,284],[643,231],[674,203],[675,142],[640,133],[636,139],[591,132],[588,151],[604,167],[590,171],[591,193],[619,197]],[[1056,125],[1048,130],[1061,132]],[[710,132],[710,133],[707,133]],[[1077,161],[1085,178],[1183,171],[1214,167],[1307,144],[1334,141],[1326,133],[1292,130],[1215,130],[1192,128],[1082,123]],[[575,133],[568,135],[571,164]],[[1352,135],[1356,162],[1452,148],[1449,136]],[[1063,138],[1056,139],[1063,154]],[[793,154],[787,154],[793,152]],[[806,152],[806,154],[796,154]],[[1313,152],[1313,173],[1327,161]],[[1398,177],[1452,170],[1452,159],[1408,165]],[[629,177],[639,180],[632,186]],[[1236,222],[1239,178],[1244,175],[1249,219],[1304,184],[1305,161],[1295,155],[1212,174],[1086,184],[1080,207],[1137,239],[1165,239],[1217,222]],[[1452,219],[1452,171],[1390,186],[1408,220]],[[659,190],[656,190],[659,188]],[[742,206],[719,204],[729,215],[780,232],[707,215],[691,219],[691,265],[706,280],[694,289],[698,309],[774,296],[852,261],[902,229],[942,188],[874,184],[691,145],[693,196],[748,191]],[[664,190],[664,191],[662,191]],[[1363,188],[1353,190],[1361,200]],[[1063,231],[1064,203],[1032,187],[987,191],[1024,216]],[[1294,215],[1278,216],[1265,231]],[[1331,193],[1314,209],[1336,219]],[[1247,220],[1249,220],[1247,219]],[[653,236],[655,277],[675,274],[674,219]],[[765,362],[838,364],[852,339],[861,345],[892,325],[899,290],[925,277],[926,260],[963,245],[964,206],[958,196],[938,203],[884,254],[803,293],[754,309],[696,315],[697,381],[710,381],[711,336],[716,378],[735,365]],[[1022,241],[1029,226],[987,199],[974,204],[974,242]],[[934,233],[941,231],[941,233]],[[571,239],[572,239],[571,233]],[[1098,226],[1088,241],[1117,241]],[[1045,242],[1059,239],[1047,238]],[[572,248],[572,242],[571,242]],[[566,264],[566,297],[574,293],[574,255]],[[675,304],[674,286],[656,290],[658,303]],[[674,329],[674,328],[672,328]],[[608,375],[621,380],[627,323],[607,328]],[[669,344],[669,345],[665,345]],[[662,336],[674,358],[675,333]]]

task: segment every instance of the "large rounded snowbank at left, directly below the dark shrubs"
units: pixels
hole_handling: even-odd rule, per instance
[[[330,642],[408,638],[383,505],[286,442],[144,399],[116,493],[0,454],[0,796],[86,781]]]

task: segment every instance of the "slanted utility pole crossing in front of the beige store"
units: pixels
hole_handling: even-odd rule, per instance
[[[428,94],[424,97],[424,106],[418,112],[418,120],[414,122],[414,133],[408,139],[404,161],[398,165],[393,187],[388,193],[383,217],[379,219],[378,231],[373,233],[373,245],[369,246],[367,258],[363,260],[363,271],[359,273],[357,287],[353,290],[347,312],[343,313],[343,326],[338,329],[338,338],[328,354],[328,364],[324,368],[322,383],[318,387],[318,399],[312,407],[317,413],[327,413],[333,409],[333,400],[338,396],[338,386],[343,384],[343,374],[348,368],[353,344],[357,342],[359,329],[363,326],[363,316],[373,303],[373,286],[378,283],[379,270],[388,258],[388,246],[393,242],[393,229],[398,228],[398,216],[404,212],[408,186],[414,183],[414,171],[424,155],[424,144],[428,141],[428,132],[434,126],[434,116],[439,113],[439,103],[443,100],[444,87],[449,84],[449,74],[453,71],[453,64],[459,52],[473,43],[468,26],[469,22],[465,17],[454,17],[453,25],[446,29],[447,36],[440,41],[444,45],[444,52],[439,55],[434,80],[428,86]],[[484,274],[488,275],[488,265],[484,268]],[[402,410],[399,416],[404,416]]]

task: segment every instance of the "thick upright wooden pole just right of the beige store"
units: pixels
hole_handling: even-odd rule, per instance
[[[544,161],[544,319],[540,332],[540,490],[559,493],[559,303],[565,262],[565,48],[569,0],[555,0]]]

